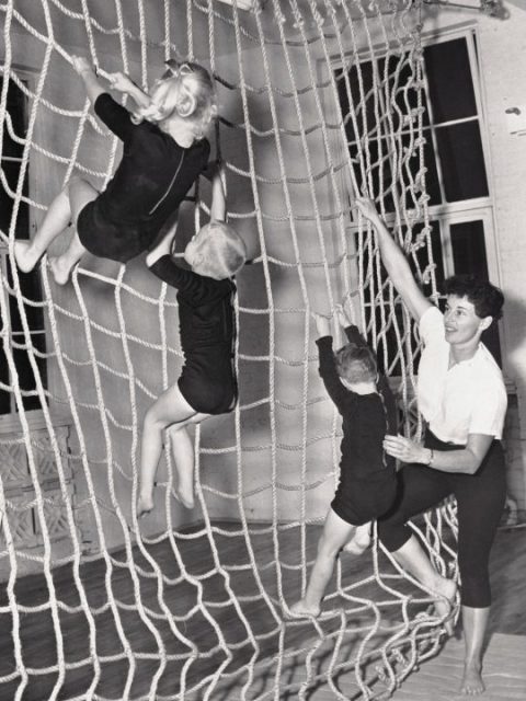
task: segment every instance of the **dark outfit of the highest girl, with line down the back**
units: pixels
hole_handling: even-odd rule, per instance
[[[106,188],[79,214],[77,231],[93,255],[126,263],[146,251],[183,200],[210,153],[207,139],[182,148],[148,120],[103,93],[95,114],[123,141],[123,158]]]

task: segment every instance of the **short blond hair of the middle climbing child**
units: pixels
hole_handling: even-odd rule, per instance
[[[247,248],[239,233],[225,221],[213,220],[202,227],[201,252],[217,279],[232,277],[247,261]]]

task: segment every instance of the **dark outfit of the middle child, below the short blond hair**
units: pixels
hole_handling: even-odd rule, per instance
[[[179,322],[184,366],[179,379],[182,395],[197,412],[225,414],[236,406],[236,320],[230,278],[215,280],[179,267],[163,255],[150,267],[161,280],[178,288]]]

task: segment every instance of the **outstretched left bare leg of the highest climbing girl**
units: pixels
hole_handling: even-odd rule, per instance
[[[50,243],[71,221],[77,223],[81,209],[89,202],[95,199],[98,194],[96,189],[87,181],[81,177],[72,177],[49,205],[35,238],[32,241],[14,242],[14,257],[19,268],[23,273],[32,271]],[[78,244],[80,244],[80,241],[78,241]]]

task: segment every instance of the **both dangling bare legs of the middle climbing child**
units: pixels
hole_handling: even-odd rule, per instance
[[[186,402],[178,384],[163,392],[147,411],[142,424],[137,516],[142,516],[153,508],[153,486],[162,453],[163,432],[169,426],[172,426],[171,443],[178,472],[175,493],[184,506],[193,506],[194,448],[185,426],[199,423],[208,416],[209,414],[196,412]]]

